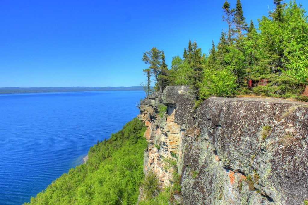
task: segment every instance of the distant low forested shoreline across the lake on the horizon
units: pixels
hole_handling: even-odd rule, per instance
[[[60,92],[85,92],[85,91],[142,91],[142,86],[132,87],[5,87],[0,88],[0,94],[17,93],[60,93]]]

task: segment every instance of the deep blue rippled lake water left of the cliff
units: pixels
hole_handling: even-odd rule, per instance
[[[0,95],[0,204],[22,204],[136,117],[142,91]]]

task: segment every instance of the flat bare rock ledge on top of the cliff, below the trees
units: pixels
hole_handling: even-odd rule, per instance
[[[265,102],[265,103],[281,103],[281,104],[294,104],[294,105],[305,105],[308,103],[300,101],[291,101],[279,98],[261,98],[261,97],[210,97],[209,99],[217,99],[223,101],[254,101],[254,102]]]

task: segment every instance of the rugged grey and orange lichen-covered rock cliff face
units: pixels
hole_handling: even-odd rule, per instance
[[[182,204],[301,204],[308,198],[308,108],[268,98],[211,97],[198,109],[187,86],[141,102],[144,172],[172,183]],[[166,106],[166,107],[164,107]],[[166,108],[166,109],[165,109]]]

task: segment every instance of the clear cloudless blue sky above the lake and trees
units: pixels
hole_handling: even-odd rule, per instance
[[[207,53],[226,28],[224,1],[0,0],[0,87],[139,85],[153,46],[169,66],[189,39]],[[242,0],[247,22],[272,2]]]

